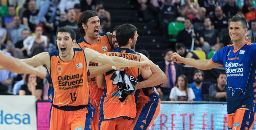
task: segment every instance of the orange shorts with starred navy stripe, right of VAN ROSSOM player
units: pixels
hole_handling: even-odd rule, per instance
[[[136,117],[131,125],[131,130],[148,130],[160,113],[160,104],[160,99],[151,103],[139,103]]]

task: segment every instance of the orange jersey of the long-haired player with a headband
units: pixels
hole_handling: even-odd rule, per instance
[[[86,42],[83,38],[81,38],[77,41],[77,44],[80,46],[81,49],[90,48],[102,54],[112,50],[106,33],[99,33],[99,40],[97,43],[90,44]],[[89,66],[98,66],[98,64],[90,62]],[[96,83],[96,77],[89,78],[89,90],[90,99],[99,100],[102,96],[103,89],[98,88]]]

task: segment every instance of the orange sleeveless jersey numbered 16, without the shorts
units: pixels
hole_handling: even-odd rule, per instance
[[[49,101],[58,107],[84,106],[89,103],[88,72],[84,51],[74,48],[74,57],[62,61],[59,51],[49,53],[51,70],[49,82]]]

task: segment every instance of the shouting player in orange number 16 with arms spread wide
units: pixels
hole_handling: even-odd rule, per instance
[[[88,130],[94,108],[89,101],[88,63],[123,67],[146,68],[149,62],[135,62],[124,58],[108,57],[94,50],[75,49],[75,32],[68,27],[57,30],[57,45],[59,50],[52,53],[43,52],[25,63],[38,66],[46,65],[49,76],[49,101],[51,108],[50,130]]]

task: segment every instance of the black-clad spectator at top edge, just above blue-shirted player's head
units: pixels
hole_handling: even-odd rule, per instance
[[[235,0],[228,0],[228,2],[222,6],[222,10],[227,18],[231,18],[240,11],[239,7],[235,4]]]

